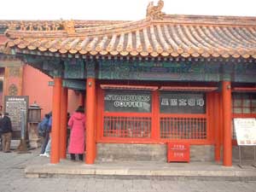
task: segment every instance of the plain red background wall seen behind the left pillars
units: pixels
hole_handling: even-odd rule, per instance
[[[43,108],[41,116],[49,113],[52,108],[52,86],[49,86],[49,81],[53,79],[41,73],[38,69],[29,65],[23,67],[23,84],[22,95],[29,96],[29,105],[34,101]],[[73,90],[68,90],[68,109],[69,113],[73,113],[79,106],[79,95]]]

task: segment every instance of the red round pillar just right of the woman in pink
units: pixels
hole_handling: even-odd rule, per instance
[[[88,78],[86,82],[86,164],[93,164],[96,157],[95,113],[96,82],[94,78]]]

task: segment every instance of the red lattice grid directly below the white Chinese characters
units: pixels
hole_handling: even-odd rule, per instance
[[[170,139],[207,139],[207,119],[160,118],[160,137]]]

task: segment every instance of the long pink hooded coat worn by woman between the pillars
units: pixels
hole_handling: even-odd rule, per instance
[[[85,116],[84,113],[75,112],[68,120],[70,126],[69,154],[84,154],[85,143]]]

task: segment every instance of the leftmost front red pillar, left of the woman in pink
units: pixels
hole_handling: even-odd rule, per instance
[[[52,101],[52,128],[51,128],[51,152],[50,163],[60,162],[60,125],[61,125],[61,86],[62,79],[54,78]]]

